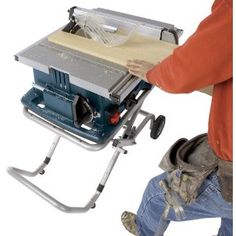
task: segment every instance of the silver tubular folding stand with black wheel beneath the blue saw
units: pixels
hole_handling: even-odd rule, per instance
[[[43,199],[48,201],[50,204],[52,204],[54,207],[58,208],[59,210],[61,210],[63,212],[83,213],[83,212],[87,212],[91,208],[94,208],[95,203],[96,203],[97,199],[99,198],[100,194],[102,193],[102,191],[105,187],[105,184],[112,172],[112,169],[113,169],[119,155],[121,153],[123,153],[123,154],[127,153],[127,151],[124,149],[124,147],[136,144],[135,138],[139,135],[139,133],[142,131],[142,129],[145,127],[145,125],[149,121],[150,121],[150,128],[152,129],[152,133],[155,133],[154,136],[156,136],[153,138],[157,138],[160,135],[160,133],[164,127],[164,122],[165,122],[164,119],[161,119],[161,122],[160,122],[160,119],[155,120],[155,116],[153,114],[141,110],[141,106],[143,104],[143,101],[149,92],[150,91],[145,91],[138,99],[138,103],[130,111],[128,111],[125,114],[122,123],[117,128],[117,132],[122,127],[124,128],[123,135],[120,138],[113,139],[113,137],[117,134],[117,132],[115,132],[109,138],[109,140],[107,140],[103,144],[88,143],[87,141],[81,139],[80,137],[75,136],[69,132],[66,132],[62,128],[55,126],[54,124],[48,122],[47,120],[41,118],[40,116],[37,116],[36,114],[30,112],[27,108],[24,108],[24,114],[26,117],[28,117],[29,119],[35,121],[36,123],[38,123],[42,126],[48,128],[49,130],[53,131],[54,133],[56,133],[56,137],[55,137],[55,139],[48,151],[48,154],[47,154],[44,162],[35,171],[30,172],[30,171],[21,170],[21,169],[15,168],[15,167],[9,167],[8,173],[11,176],[13,176],[16,180],[18,180],[19,182],[24,184],[26,187],[28,187],[30,190],[32,190],[33,192],[38,194],[40,197],[42,197]],[[134,122],[139,114],[144,116],[144,119],[139,124],[139,126],[136,128],[134,126]],[[158,118],[164,118],[164,117],[159,116]],[[155,124],[155,122],[156,122],[156,124]],[[109,164],[102,176],[101,181],[99,182],[99,185],[98,185],[94,195],[91,197],[91,199],[88,201],[88,203],[84,207],[67,206],[67,205],[59,202],[58,200],[56,200],[52,196],[50,196],[48,193],[46,193],[45,191],[43,191],[42,189],[40,189],[39,187],[37,187],[36,185],[31,183],[29,180],[27,180],[24,177],[24,176],[34,177],[38,174],[44,174],[44,172],[45,172],[44,169],[49,164],[49,162],[52,158],[52,155],[53,155],[61,137],[66,138],[66,139],[74,142],[75,144],[77,144],[87,150],[90,150],[90,151],[101,150],[110,141],[112,141],[112,146],[115,149],[114,154],[113,154],[113,156],[112,156],[112,158],[111,158],[111,160],[110,160],[110,162],[109,162]]]

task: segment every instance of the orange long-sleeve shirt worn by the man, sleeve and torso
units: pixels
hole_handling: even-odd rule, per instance
[[[232,0],[216,0],[196,32],[147,79],[170,93],[214,85],[208,140],[219,158],[232,160]]]

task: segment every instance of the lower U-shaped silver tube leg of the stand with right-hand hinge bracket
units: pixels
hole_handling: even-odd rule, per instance
[[[139,135],[141,130],[145,127],[145,125],[149,121],[151,122],[151,127],[152,127],[153,121],[155,120],[155,116],[153,114],[150,114],[148,112],[140,110],[140,107],[133,113],[131,118],[129,120],[127,120],[126,128],[125,128],[124,133],[121,136],[121,138],[113,140],[113,147],[115,148],[115,152],[114,152],[114,154],[113,154],[113,156],[112,156],[112,158],[111,158],[111,160],[110,160],[110,162],[103,174],[103,177],[102,177],[94,195],[90,198],[90,200],[88,201],[88,203],[84,207],[67,206],[67,205],[59,202],[58,200],[56,200],[55,198],[53,198],[52,196],[50,196],[46,192],[44,192],[42,189],[40,189],[39,187],[37,187],[36,185],[31,183],[25,177],[23,177],[23,175],[29,176],[29,177],[34,177],[37,174],[40,174],[40,173],[43,174],[45,167],[49,164],[51,157],[52,157],[52,155],[59,143],[59,140],[61,137],[59,134],[56,135],[44,162],[35,171],[29,172],[26,170],[21,170],[21,169],[14,168],[14,167],[9,167],[8,173],[11,176],[13,176],[16,180],[18,180],[19,182],[24,184],[26,187],[28,187],[30,190],[32,190],[33,192],[38,194],[40,197],[45,199],[47,202],[52,204],[54,207],[58,208],[59,210],[61,210],[63,212],[67,212],[67,213],[87,212],[89,209],[95,207],[95,203],[96,203],[97,199],[99,198],[100,194],[102,193],[102,191],[105,187],[105,184],[106,184],[106,182],[113,170],[113,167],[114,167],[119,155],[121,153],[123,153],[123,154],[127,153],[127,151],[125,149],[123,149],[123,147],[136,144],[135,138]],[[137,128],[135,128],[133,125],[134,125],[134,121],[137,118],[138,114],[145,116],[145,118],[139,124],[139,126]]]

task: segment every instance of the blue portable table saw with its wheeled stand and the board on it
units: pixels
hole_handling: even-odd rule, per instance
[[[134,27],[135,33],[120,46],[106,47],[81,32],[78,19],[86,12],[102,18],[104,30],[115,34]],[[149,121],[154,139],[165,123],[164,116],[155,118],[141,110],[152,86],[129,74],[124,66],[126,60],[157,63],[171,54],[181,34],[182,30],[163,22],[100,8],[71,8],[67,25],[15,56],[34,71],[33,87],[21,100],[25,116],[56,137],[35,171],[10,167],[9,174],[64,212],[93,208],[118,156],[127,153],[124,147],[135,144],[135,138]],[[135,127],[138,115],[143,119]],[[123,135],[116,138],[122,128]],[[90,151],[101,150],[110,142],[115,149],[95,194],[84,207],[67,206],[23,177],[45,172],[61,137]]]

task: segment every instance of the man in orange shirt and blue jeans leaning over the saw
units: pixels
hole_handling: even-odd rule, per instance
[[[184,159],[184,143],[186,148],[189,143],[195,145],[196,140],[201,140],[188,158],[192,159],[191,163],[206,161],[202,166],[207,171],[201,169],[205,171],[204,179],[199,182],[199,173],[195,172],[195,179],[187,173],[184,177],[197,180],[195,192],[190,194],[186,190],[183,178],[178,182],[179,189],[176,188],[176,176],[181,171],[178,166],[168,169],[163,165],[173,158],[170,158],[171,149],[162,161],[167,171],[149,182],[137,215],[122,214],[124,226],[135,235],[157,236],[163,235],[172,220],[221,217],[218,235],[232,235],[232,0],[215,0],[212,13],[196,32],[158,65],[130,60],[127,68],[131,74],[170,93],[189,93],[210,85],[214,88],[208,134],[190,141],[180,140],[181,145],[177,142],[178,148],[174,146],[176,157]],[[214,165],[209,168],[210,161]],[[184,216],[179,217],[177,213]]]

